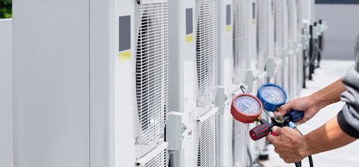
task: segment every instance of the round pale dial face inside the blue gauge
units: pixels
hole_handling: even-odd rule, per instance
[[[264,100],[271,103],[281,103],[286,99],[286,95],[281,88],[277,86],[264,86],[261,89],[261,96]]]

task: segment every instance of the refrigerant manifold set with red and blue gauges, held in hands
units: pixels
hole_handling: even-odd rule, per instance
[[[231,114],[243,123],[261,122],[261,125],[250,130],[250,138],[257,141],[272,132],[274,126],[284,127],[303,118],[303,111],[289,111],[285,116],[270,116],[268,111],[276,111],[286,101],[287,93],[282,87],[276,84],[263,84],[258,90],[257,97],[244,92],[234,97]],[[271,123],[261,118],[262,111],[270,116]]]

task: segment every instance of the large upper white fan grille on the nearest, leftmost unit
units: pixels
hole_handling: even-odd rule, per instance
[[[137,144],[164,133],[168,109],[167,3],[139,5],[136,53]]]

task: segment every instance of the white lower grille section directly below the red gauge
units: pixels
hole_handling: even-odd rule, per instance
[[[238,120],[232,118],[232,157],[234,166],[245,166],[247,143],[247,126]]]

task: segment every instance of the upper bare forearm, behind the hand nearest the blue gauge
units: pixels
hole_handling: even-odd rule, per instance
[[[346,91],[346,88],[344,87],[341,78],[335,81],[333,84],[326,86],[326,88],[323,88],[310,95],[310,99],[311,102],[313,102],[318,107],[318,109],[322,109],[329,104],[339,102],[340,94],[342,94],[344,91]]]

